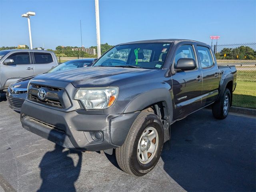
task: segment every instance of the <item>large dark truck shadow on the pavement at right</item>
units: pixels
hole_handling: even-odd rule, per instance
[[[166,173],[187,191],[255,191],[256,121],[244,118],[201,110],[173,124]]]

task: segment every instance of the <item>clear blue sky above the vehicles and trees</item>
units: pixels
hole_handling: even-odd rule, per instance
[[[255,0],[99,0],[101,43],[186,38],[208,44],[256,42]],[[96,45],[94,0],[0,0],[0,47],[27,44],[31,18],[33,47]]]

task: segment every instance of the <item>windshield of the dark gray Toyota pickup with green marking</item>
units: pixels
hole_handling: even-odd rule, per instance
[[[106,52],[93,66],[161,69],[170,43],[118,45]]]

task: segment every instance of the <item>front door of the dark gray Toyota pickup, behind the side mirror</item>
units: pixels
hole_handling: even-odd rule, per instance
[[[175,53],[174,68],[180,58],[195,57],[193,45],[181,45]],[[185,117],[187,114],[201,107],[202,72],[197,68],[188,71],[177,71],[172,76],[174,95],[174,120]]]

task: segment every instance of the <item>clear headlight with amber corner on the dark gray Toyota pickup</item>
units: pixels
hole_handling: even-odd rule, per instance
[[[80,88],[74,99],[80,100],[86,109],[106,109],[112,106],[118,95],[118,87]]]

